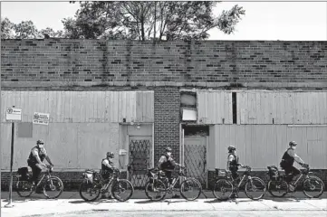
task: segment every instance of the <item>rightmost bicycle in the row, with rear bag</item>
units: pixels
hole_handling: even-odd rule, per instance
[[[289,178],[289,175],[280,175],[278,168],[274,165],[267,166],[270,175],[270,180],[268,182],[268,192],[274,197],[284,197],[287,193],[294,193],[299,181],[304,177],[302,184],[302,190],[305,196],[308,198],[319,198],[324,191],[324,184],[322,180],[310,172],[309,165],[303,165],[304,169],[300,171],[300,176],[291,182],[286,182],[285,179]],[[272,169],[277,169],[277,172],[272,172]],[[274,176],[271,174],[274,173]],[[317,185],[314,185],[317,184]],[[319,186],[318,186],[319,185]],[[311,195],[310,192],[317,190],[317,195]]]

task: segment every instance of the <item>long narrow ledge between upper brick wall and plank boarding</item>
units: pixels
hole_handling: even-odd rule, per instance
[[[115,87],[193,87],[237,90],[327,90],[327,82],[2,81],[2,90],[110,90]]]

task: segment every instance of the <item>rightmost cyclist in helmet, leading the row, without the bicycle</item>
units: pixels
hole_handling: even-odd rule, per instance
[[[300,170],[293,166],[294,161],[296,161],[299,165],[302,165],[303,167],[308,165],[305,165],[301,157],[295,154],[295,148],[297,146],[297,143],[295,141],[291,141],[288,145],[289,147],[284,152],[280,165],[282,169],[284,169],[285,175],[287,176],[286,182],[290,183],[292,182],[293,177],[295,175],[300,175]]]

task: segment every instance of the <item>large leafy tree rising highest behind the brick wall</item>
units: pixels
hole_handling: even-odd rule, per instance
[[[74,2],[71,2],[74,3]],[[245,14],[235,5],[217,17],[216,2],[80,2],[74,18],[63,19],[67,37],[111,38],[145,41],[204,40],[218,28],[234,33]]]

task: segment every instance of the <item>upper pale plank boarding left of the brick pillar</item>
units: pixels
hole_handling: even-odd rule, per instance
[[[49,113],[53,123],[154,122],[153,91],[2,91],[6,107],[22,107],[23,121]]]

